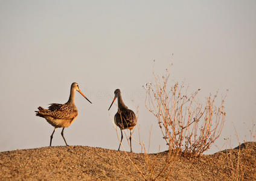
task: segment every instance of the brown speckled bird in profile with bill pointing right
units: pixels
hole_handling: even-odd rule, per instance
[[[57,104],[57,103],[52,103],[50,104],[51,106],[48,107],[48,109],[43,109],[43,107],[39,106],[35,112],[36,116],[40,116],[42,118],[45,118],[46,121],[53,125],[54,130],[53,133],[51,134],[50,138],[50,147],[51,147],[51,141],[53,139],[53,134],[57,128],[62,127],[62,138],[65,141],[65,144],[68,146],[66,143],[66,139],[63,135],[65,127],[69,127],[69,125],[72,124],[72,122],[75,121],[78,115],[78,110],[77,107],[75,107],[75,90],[77,90],[83,97],[86,98],[86,96],[81,92],[79,89],[79,86],[77,83],[72,83],[71,84],[71,89],[70,89],[70,95],[68,102],[65,104]],[[86,98],[88,100],[88,98]],[[89,100],[88,100],[89,101]],[[92,104],[91,101],[89,103]]]

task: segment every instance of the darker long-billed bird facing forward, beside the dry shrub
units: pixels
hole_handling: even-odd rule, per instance
[[[124,104],[120,89],[116,89],[114,94],[115,94],[115,97],[114,97],[110,107],[112,106],[112,104],[114,103],[114,101],[117,98],[118,109],[117,109],[117,113],[115,114],[114,118],[115,118],[115,124],[121,130],[121,141],[120,141],[120,144],[118,147],[118,151],[120,150],[120,145],[123,140],[122,130],[129,129],[130,130],[130,138],[129,138],[130,139],[130,152],[132,152],[132,130],[138,121],[137,121],[135,113],[132,110],[128,109],[128,107]],[[109,107],[109,109],[110,109],[110,107]]]

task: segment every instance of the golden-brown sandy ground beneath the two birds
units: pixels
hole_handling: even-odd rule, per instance
[[[0,180],[256,180],[256,142],[239,150],[191,157],[128,153],[86,146],[0,153]],[[161,172],[162,171],[162,172]]]

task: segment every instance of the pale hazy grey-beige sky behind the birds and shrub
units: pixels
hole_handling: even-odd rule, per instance
[[[226,124],[216,144],[231,138],[237,145],[233,125],[240,141],[249,141],[256,121],[255,32],[255,0],[0,1],[0,151],[48,146],[54,128],[34,110],[65,103],[74,81],[93,104],[77,92],[78,118],[64,132],[69,145],[117,150],[109,117],[117,106],[107,109],[119,88],[130,109],[139,106],[146,145],[152,126],[150,152],[166,150],[144,106],[142,85],[153,82],[154,59],[158,74],[172,61],[170,84],[185,79],[191,90],[202,90],[201,101],[229,89]],[[60,132],[53,145],[65,145]],[[135,141],[133,150],[141,151]],[[208,153],[214,151],[213,145]]]

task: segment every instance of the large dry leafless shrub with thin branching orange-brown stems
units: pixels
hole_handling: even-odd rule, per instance
[[[170,65],[171,66],[171,65]],[[199,156],[219,138],[225,122],[225,97],[216,106],[217,93],[197,101],[200,89],[188,95],[184,83],[168,86],[170,66],[155,83],[146,83],[146,108],[156,116],[169,150],[179,150]]]

